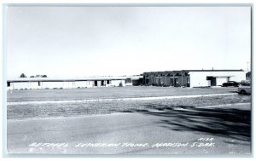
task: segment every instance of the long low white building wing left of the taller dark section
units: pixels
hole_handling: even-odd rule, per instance
[[[13,78],[8,89],[73,89],[139,85],[143,76],[90,78]]]

